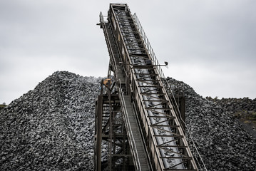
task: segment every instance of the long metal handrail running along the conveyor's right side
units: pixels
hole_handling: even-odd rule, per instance
[[[171,101],[171,102],[173,103],[173,105],[175,105],[175,107],[177,108],[177,111],[176,111],[176,112],[177,112],[178,115],[180,116],[180,117],[178,117],[178,120],[180,120],[180,122],[184,123],[185,127],[188,128],[188,126],[185,124],[185,121],[181,118],[180,110],[178,110],[178,104],[177,104],[177,102],[176,102],[176,100],[175,100],[173,91],[172,91],[172,89],[171,89],[171,87],[170,87],[170,84],[168,83],[167,79],[165,78],[165,75],[164,75],[164,73],[163,73],[163,70],[162,70],[162,68],[160,67],[160,63],[158,62],[158,59],[157,59],[156,56],[155,56],[155,52],[153,51],[153,48],[151,47],[151,45],[150,45],[150,43],[149,43],[149,41],[148,41],[148,38],[147,38],[147,36],[145,35],[145,31],[143,30],[143,27],[141,26],[140,21],[138,20],[137,14],[133,14],[133,21],[135,21],[135,25],[137,26],[138,31],[140,32],[140,35],[142,36],[141,38],[143,39],[143,43],[144,43],[144,45],[145,45],[145,48],[148,50],[148,53],[149,53],[149,55],[150,55],[150,58],[151,58],[151,60],[152,60],[152,62],[153,62],[153,64],[154,64],[154,66],[156,67],[156,70],[157,70],[157,72],[158,72],[158,74],[159,74],[159,76],[160,76],[160,79],[164,82],[163,85],[165,86],[166,92],[167,92],[169,95],[171,95],[172,98],[173,98],[173,100],[172,100],[172,98],[170,98],[170,101]],[[182,128],[182,129],[183,129],[183,128]],[[183,131],[185,132],[184,129],[183,129]],[[193,138],[192,138],[192,136],[191,136],[189,130],[188,130],[188,134],[190,135],[190,139],[191,139],[192,142],[193,142],[193,147],[195,147],[195,151],[198,153],[198,156],[199,156],[199,158],[200,158],[200,162],[203,163],[204,169],[207,170],[206,167],[205,167],[205,163],[203,162],[203,159],[202,159],[202,157],[200,156],[200,153],[198,152],[198,148],[195,146],[195,142],[194,142],[194,140],[193,140]]]

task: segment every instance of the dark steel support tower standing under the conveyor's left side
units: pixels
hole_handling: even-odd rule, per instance
[[[96,101],[97,170],[134,170],[119,97],[111,93],[109,88],[106,89],[103,94],[101,84],[101,95]]]

